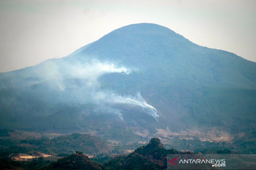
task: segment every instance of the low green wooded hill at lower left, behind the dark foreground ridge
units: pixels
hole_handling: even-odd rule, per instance
[[[10,154],[26,153],[33,154],[37,151],[53,156],[66,156],[81,150],[86,154],[111,153],[112,147],[106,141],[89,134],[73,133],[68,135],[48,137],[28,137],[19,139],[22,136],[15,136],[19,133],[11,131],[10,137],[0,138],[0,156],[7,158]],[[12,137],[15,136],[15,137]]]

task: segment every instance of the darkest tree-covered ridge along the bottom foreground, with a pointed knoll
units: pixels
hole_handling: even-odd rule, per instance
[[[69,138],[72,138],[69,136]],[[201,151],[202,154],[234,154],[230,149]],[[145,146],[140,146],[130,154],[119,154],[114,158],[109,154],[97,154],[88,158],[85,153],[76,151],[71,155],[60,158],[58,161],[48,158],[36,158],[31,161],[12,161],[11,157],[0,158],[1,169],[102,169],[102,170],[129,170],[129,169],[154,169],[167,168],[167,154],[194,154],[190,151],[165,149],[159,138],[152,138]],[[199,154],[200,156],[201,154]],[[195,157],[197,157],[195,155]],[[100,162],[100,163],[99,163]],[[206,165],[208,166],[208,165]],[[207,167],[206,167],[207,169]]]

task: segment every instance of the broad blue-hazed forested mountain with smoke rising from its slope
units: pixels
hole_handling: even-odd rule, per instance
[[[255,120],[255,62],[157,24],[128,25],[69,56],[0,73],[0,128],[129,142],[232,135]]]

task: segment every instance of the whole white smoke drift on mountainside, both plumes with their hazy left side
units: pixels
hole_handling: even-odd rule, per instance
[[[121,120],[123,120],[122,110],[111,108],[109,105],[134,105],[143,108],[145,112],[157,120],[159,117],[157,110],[148,104],[140,93],[137,93],[135,96],[121,96],[113,91],[102,90],[101,84],[97,81],[100,76],[105,74],[120,73],[126,76],[132,72],[134,72],[132,69],[119,66],[118,63],[96,59],[83,59],[82,61],[75,60],[74,58],[72,60],[47,60],[36,66],[33,70],[33,76],[39,77],[36,79],[37,81],[26,81],[26,83],[28,87],[40,83],[47,84],[41,85],[41,92],[46,92],[45,86],[50,88],[52,90],[50,93],[56,96],[55,100],[57,103],[80,102],[98,104],[102,106],[102,110],[114,113]],[[26,76],[32,77],[30,72]],[[58,96],[60,97],[57,98]]]

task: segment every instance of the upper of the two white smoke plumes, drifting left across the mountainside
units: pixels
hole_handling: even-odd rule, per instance
[[[61,91],[65,89],[64,79],[83,79],[86,80],[87,87],[99,87],[97,79],[108,73],[129,74],[132,70],[126,67],[119,67],[112,62],[100,62],[99,60],[87,60],[82,63],[79,61],[70,62],[50,62],[48,61],[43,68],[43,80],[55,79]]]

